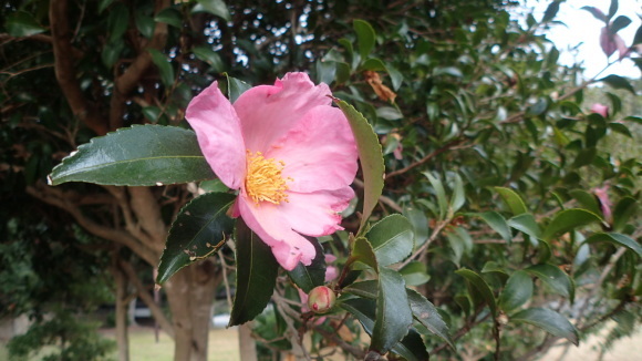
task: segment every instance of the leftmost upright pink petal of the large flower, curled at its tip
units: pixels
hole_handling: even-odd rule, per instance
[[[196,132],[200,151],[214,173],[232,189],[246,175],[246,146],[231,103],[214,82],[189,102],[185,118]]]

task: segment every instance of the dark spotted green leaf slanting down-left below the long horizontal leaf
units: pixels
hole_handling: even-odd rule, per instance
[[[183,267],[225,245],[234,231],[234,219],[226,213],[235,198],[232,194],[207,193],[180,209],[167,236],[156,283],[164,283]]]

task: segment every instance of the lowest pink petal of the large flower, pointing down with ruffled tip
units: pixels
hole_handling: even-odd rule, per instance
[[[299,261],[306,266],[312,264],[317,254],[314,246],[283,221],[279,206],[266,202],[256,205],[242,194],[238,206],[245,223],[272,248],[272,254],[281,267],[292,270]]]

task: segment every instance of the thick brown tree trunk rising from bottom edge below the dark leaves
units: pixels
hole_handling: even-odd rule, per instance
[[[221,280],[211,259],[185,267],[164,286],[172,310],[175,361],[207,361],[211,303]]]

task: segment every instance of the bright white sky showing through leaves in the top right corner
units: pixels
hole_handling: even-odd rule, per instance
[[[546,11],[546,8],[552,0],[527,0],[526,7],[534,9],[534,16],[540,20]],[[609,12],[611,0],[567,0],[560,6],[556,20],[566,23],[567,27],[556,25],[549,30],[547,37],[556,44],[561,52],[560,62],[566,65],[573,63],[583,63],[584,76],[592,78],[598,74],[607,64],[607,55],[600,48],[600,29],[604,25],[603,22],[593,18],[593,16],[580,10],[582,7],[596,7],[602,10],[603,13]],[[627,16],[632,20],[632,23],[620,30],[618,34],[622,37],[624,43],[630,45],[633,42],[635,31],[641,24],[640,16],[642,16],[642,0],[620,0],[619,10],[613,17]],[[578,47],[577,52],[568,51],[568,49]],[[618,56],[611,55],[611,60]],[[633,61],[624,59],[611,65],[607,71],[600,74],[609,75],[617,74],[628,78],[640,78],[640,69],[635,66]]]

